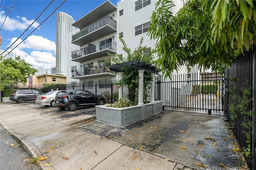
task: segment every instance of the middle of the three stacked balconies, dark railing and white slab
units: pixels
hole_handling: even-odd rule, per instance
[[[95,44],[88,43],[87,47],[71,52],[72,61],[82,63],[91,59],[107,56],[108,53],[116,53],[116,43],[99,42]]]

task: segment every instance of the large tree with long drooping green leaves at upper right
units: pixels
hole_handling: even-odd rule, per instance
[[[157,41],[157,66],[170,77],[180,65],[220,70],[255,42],[256,2],[187,0],[174,16],[170,0],[159,0],[148,35]]]

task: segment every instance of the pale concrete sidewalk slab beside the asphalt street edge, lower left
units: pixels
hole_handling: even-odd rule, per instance
[[[41,167],[48,170],[50,167],[44,164],[53,163],[51,169],[55,170],[91,170],[120,147],[118,142],[91,134],[44,154],[49,158],[42,161]]]

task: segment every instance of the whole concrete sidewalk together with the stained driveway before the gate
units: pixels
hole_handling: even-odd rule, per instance
[[[74,126],[8,103],[0,111],[0,123],[33,157],[49,157],[40,164],[44,170],[204,169],[196,163],[216,170],[223,168],[220,163],[228,169],[243,164],[218,115],[162,111],[116,127],[97,120]]]

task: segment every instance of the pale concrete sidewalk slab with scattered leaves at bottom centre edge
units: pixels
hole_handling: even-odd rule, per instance
[[[135,159],[134,156],[136,156]],[[93,170],[172,170],[175,165],[175,162],[170,162],[165,158],[122,146],[100,162]]]

